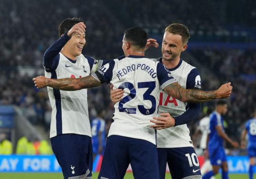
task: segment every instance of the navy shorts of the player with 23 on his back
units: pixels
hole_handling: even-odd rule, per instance
[[[98,179],[123,179],[131,164],[134,179],[159,179],[158,154],[147,140],[111,135]]]

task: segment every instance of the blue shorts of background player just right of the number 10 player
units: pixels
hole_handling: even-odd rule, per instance
[[[209,158],[212,165],[221,166],[222,162],[227,161],[225,149],[221,147],[215,150],[210,150],[209,148]]]

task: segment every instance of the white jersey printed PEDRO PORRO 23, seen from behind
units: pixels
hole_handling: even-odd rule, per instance
[[[115,103],[108,137],[120,135],[156,144],[156,131],[150,120],[158,114],[159,92],[175,82],[166,66],[143,56],[114,59],[98,70],[113,89],[124,89],[124,97]],[[93,75],[95,76],[95,75]]]

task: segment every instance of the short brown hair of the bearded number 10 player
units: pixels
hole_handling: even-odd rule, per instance
[[[183,24],[170,24],[169,26],[167,26],[167,28],[165,28],[165,32],[167,31],[173,34],[180,35],[182,38],[182,43],[187,44],[190,35],[188,28]]]

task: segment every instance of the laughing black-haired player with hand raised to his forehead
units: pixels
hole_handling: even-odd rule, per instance
[[[81,78],[95,72],[102,61],[83,56],[85,24],[68,18],[59,25],[59,36],[45,52],[43,66],[48,78]],[[92,176],[93,151],[88,116],[87,89],[76,92],[48,88],[52,106],[50,138],[65,179]]]

